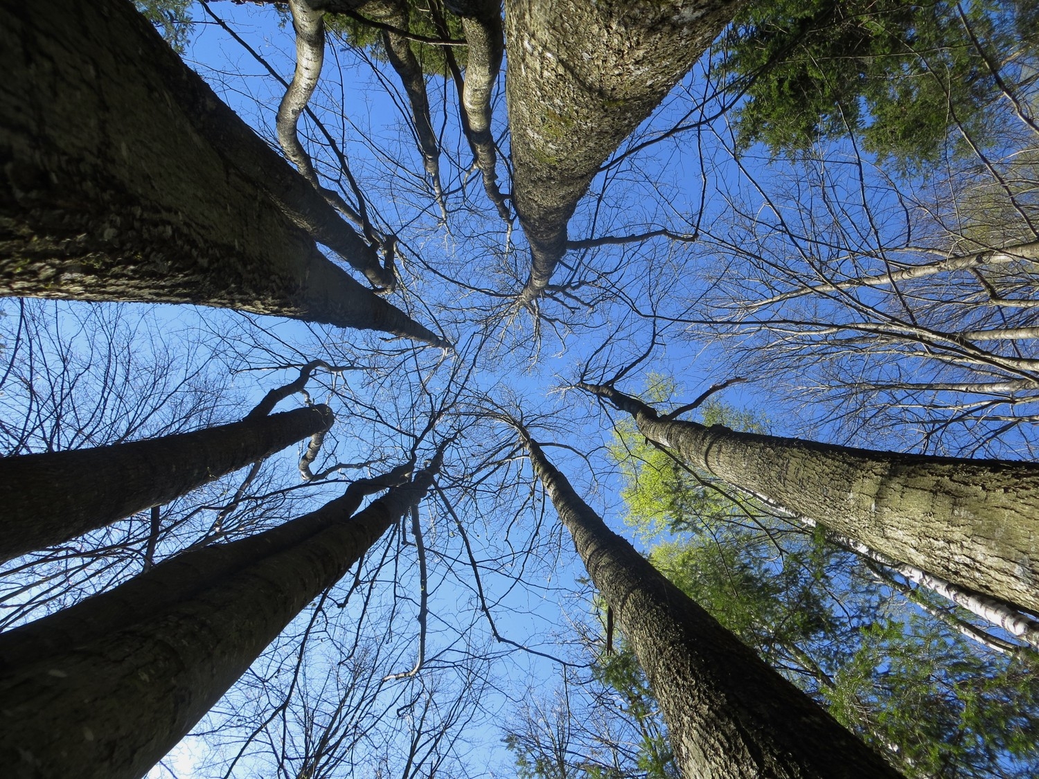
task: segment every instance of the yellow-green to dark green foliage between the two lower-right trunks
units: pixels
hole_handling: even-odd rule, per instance
[[[643,396],[661,408],[675,394],[672,381],[651,376]],[[720,403],[699,413],[704,424],[767,426]],[[627,520],[650,562],[906,776],[1039,775],[1032,655],[1009,659],[971,644],[878,586],[821,530],[718,491],[632,425],[619,427],[611,452],[625,480]],[[644,680],[615,671],[620,662],[603,661],[597,678],[634,715],[649,716],[656,703]]]

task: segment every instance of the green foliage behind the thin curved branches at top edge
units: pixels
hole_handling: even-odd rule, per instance
[[[422,37],[442,37],[430,12],[428,4],[407,0],[408,8],[407,31],[412,35]],[[443,9],[444,23],[447,26],[449,36],[452,41],[462,41],[465,37],[462,30],[461,20],[451,14],[446,8]],[[342,38],[354,49],[362,49],[375,60],[385,62],[387,53],[382,45],[382,30],[378,27],[365,24],[363,21],[345,15],[326,14],[325,26],[329,32],[338,33]],[[411,52],[419,60],[419,66],[427,76],[447,76],[448,65],[445,52],[448,47],[433,46],[419,41],[411,41]],[[450,47],[454,53],[455,60],[459,68],[465,66],[465,47]]]

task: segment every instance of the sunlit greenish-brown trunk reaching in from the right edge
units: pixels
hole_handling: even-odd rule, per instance
[[[661,419],[581,384],[693,467],[953,584],[1039,612],[1039,465],[852,449]]]

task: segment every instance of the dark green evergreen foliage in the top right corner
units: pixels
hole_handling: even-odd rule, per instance
[[[750,79],[737,112],[742,150],[797,153],[854,131],[868,151],[913,166],[939,157],[957,126],[976,143],[993,138],[990,65],[1011,83],[1025,77],[1036,16],[1032,3],[993,0],[748,3],[715,74]]]

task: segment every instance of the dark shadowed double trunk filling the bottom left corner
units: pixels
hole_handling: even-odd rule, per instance
[[[422,499],[439,461],[354,516],[359,494],[348,490],[279,528],[172,558],[0,636],[6,775],[143,775]],[[369,482],[361,493],[381,486]]]

